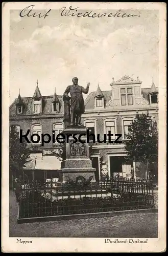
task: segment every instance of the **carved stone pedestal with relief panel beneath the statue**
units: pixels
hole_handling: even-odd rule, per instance
[[[92,168],[92,163],[89,158],[89,145],[86,142],[86,127],[85,126],[69,126],[62,132],[65,135],[65,158],[61,162],[61,169],[59,170],[59,182],[66,182],[68,180],[76,181],[76,178],[83,176],[86,180],[91,176],[91,182],[95,182],[95,168]],[[68,136],[71,134],[71,136]],[[81,135],[81,140],[84,143],[75,143],[75,138],[78,139]],[[68,137],[68,143],[67,142]],[[74,138],[73,138],[74,137]]]

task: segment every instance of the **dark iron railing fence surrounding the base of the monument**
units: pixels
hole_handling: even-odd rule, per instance
[[[98,183],[23,182],[19,219],[155,208],[151,182],[109,179]]]

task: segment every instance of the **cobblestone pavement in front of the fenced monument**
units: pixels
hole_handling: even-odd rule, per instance
[[[17,210],[15,195],[10,191],[10,237],[157,238],[158,236],[156,212],[17,224]]]

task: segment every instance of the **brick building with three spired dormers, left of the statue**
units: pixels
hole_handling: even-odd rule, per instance
[[[52,96],[42,96],[37,86],[33,97],[18,98],[10,106],[10,125],[16,125],[18,130],[26,134],[28,129],[32,134],[48,133],[52,135],[63,131],[64,105],[62,95],[56,92]],[[36,140],[36,138],[34,138]],[[59,143],[29,143],[30,157],[25,168],[27,176],[33,180],[55,177],[56,170],[60,168],[60,161],[54,156]]]

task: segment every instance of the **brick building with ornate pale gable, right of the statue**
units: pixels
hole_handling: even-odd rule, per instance
[[[95,143],[93,145],[93,167],[97,168],[101,177],[100,156],[107,165],[108,175],[115,174],[128,177],[146,178],[146,166],[142,163],[126,163],[124,157],[125,140],[127,139],[128,126],[135,118],[136,113],[147,113],[158,123],[158,88],[154,82],[150,88],[141,89],[141,81],[123,76],[110,84],[111,90],[101,91],[99,85],[96,92],[91,92],[85,100],[85,113],[83,122],[90,133],[103,135],[111,131],[112,134],[122,134],[121,144]],[[115,140],[115,137],[114,137]],[[152,168],[155,166],[151,166]],[[135,172],[136,170],[136,172]]]

